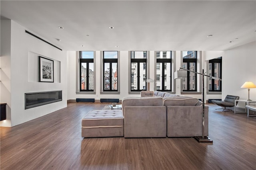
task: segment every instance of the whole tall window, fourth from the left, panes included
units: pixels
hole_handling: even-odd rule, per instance
[[[159,91],[172,89],[172,51],[156,51],[156,87]]]

